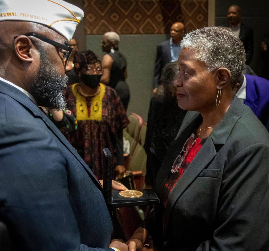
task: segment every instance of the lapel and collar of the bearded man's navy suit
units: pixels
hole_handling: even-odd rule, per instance
[[[79,154],[75,151],[69,141],[63,136],[63,134],[59,131],[59,129],[49,120],[49,118],[34,104],[29,97],[27,97],[23,92],[19,89],[0,81],[0,92],[11,97],[12,99],[19,102],[22,106],[25,107],[34,117],[41,118],[49,130],[54,133],[54,135],[59,139],[59,141],[76,157],[76,159],[82,164],[83,168],[86,170],[88,175],[93,178],[94,182],[101,187],[100,182],[97,180],[93,172],[87,166],[87,164],[83,161],[83,159],[79,156]]]

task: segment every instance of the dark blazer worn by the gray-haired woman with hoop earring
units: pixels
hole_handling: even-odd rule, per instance
[[[174,160],[201,121],[199,113],[187,112],[157,175],[160,198]],[[161,250],[268,250],[268,163],[268,132],[235,97],[176,183],[164,212],[155,207],[144,227]]]

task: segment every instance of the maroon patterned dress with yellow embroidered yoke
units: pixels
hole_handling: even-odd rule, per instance
[[[117,132],[129,124],[125,109],[114,89],[100,83],[94,97],[80,95],[79,83],[70,86],[68,108],[77,118],[77,130],[66,135],[98,179],[103,179],[106,165],[104,148],[109,148],[116,164]]]

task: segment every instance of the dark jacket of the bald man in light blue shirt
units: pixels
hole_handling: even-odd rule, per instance
[[[171,62],[170,42],[169,40],[166,40],[157,46],[153,88],[156,88],[158,85],[160,85],[162,69],[169,62]]]

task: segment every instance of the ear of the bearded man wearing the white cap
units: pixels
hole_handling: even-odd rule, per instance
[[[18,36],[14,41],[14,50],[17,57],[24,62],[33,62],[33,44],[31,40],[22,35]]]

